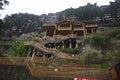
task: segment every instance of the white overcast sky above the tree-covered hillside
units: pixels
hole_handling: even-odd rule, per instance
[[[65,10],[67,8],[78,8],[89,3],[96,3],[100,5],[108,5],[110,1],[114,0],[8,0],[9,6],[5,10],[0,10],[3,18],[6,14],[14,13],[32,13],[36,15],[55,13]]]

